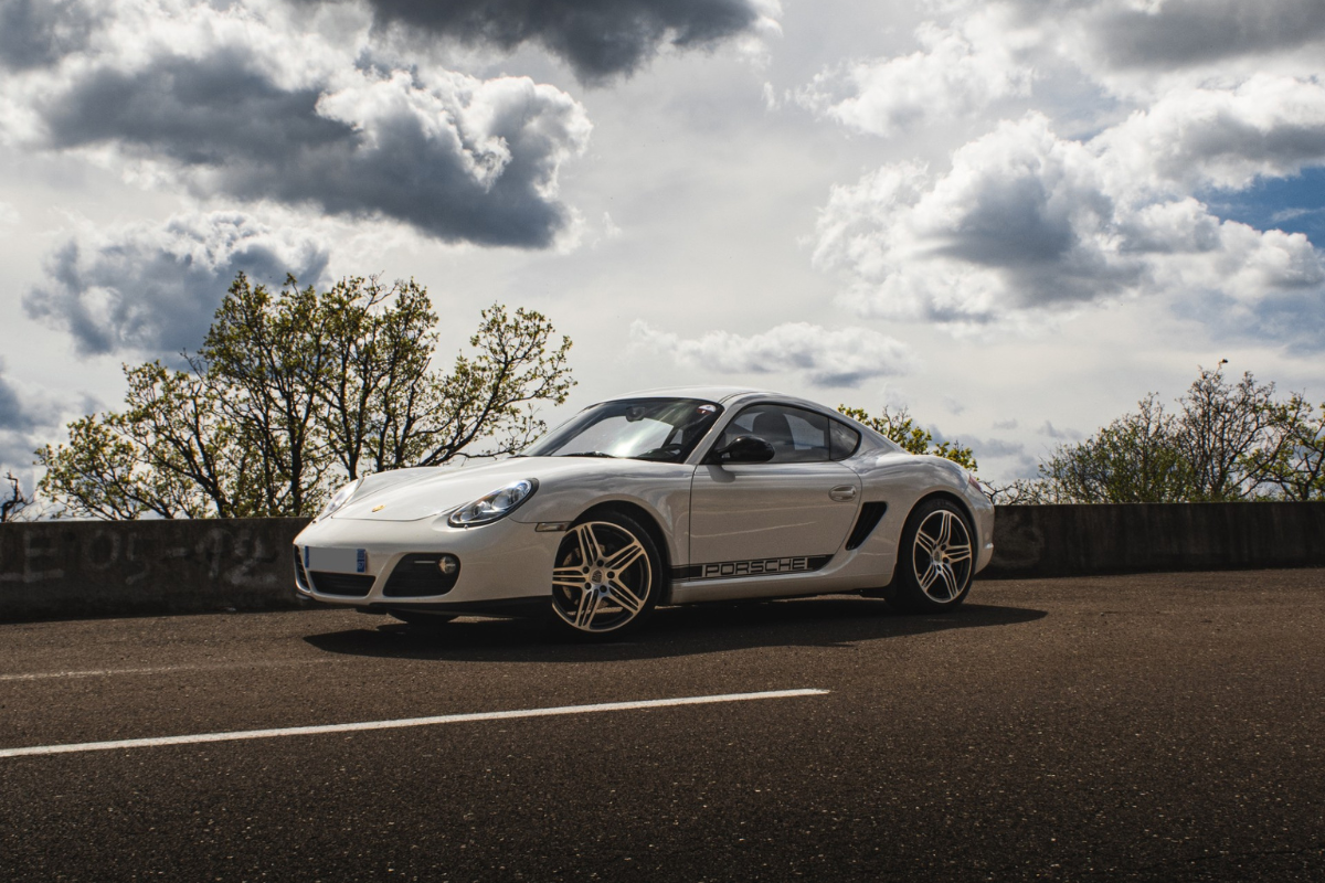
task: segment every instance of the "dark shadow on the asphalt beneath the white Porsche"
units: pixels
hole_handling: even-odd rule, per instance
[[[604,662],[689,657],[750,647],[849,647],[861,641],[1034,622],[1044,610],[966,604],[953,613],[904,616],[885,601],[832,596],[704,604],[657,610],[625,641],[580,643],[530,620],[465,618],[417,629],[390,617],[362,629],[305,638],[326,653],[473,662]],[[366,617],[367,620],[367,617]],[[371,621],[370,621],[371,622]]]

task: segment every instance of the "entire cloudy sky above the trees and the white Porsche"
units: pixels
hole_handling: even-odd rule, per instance
[[[570,408],[906,405],[1002,481],[1220,359],[1321,401],[1322,58],[1320,0],[0,0],[0,467],[238,270],[413,277],[447,361],[542,310]]]

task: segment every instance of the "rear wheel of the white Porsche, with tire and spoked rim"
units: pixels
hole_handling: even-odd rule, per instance
[[[975,531],[957,504],[930,499],[906,518],[888,604],[905,613],[955,610],[975,576]]]

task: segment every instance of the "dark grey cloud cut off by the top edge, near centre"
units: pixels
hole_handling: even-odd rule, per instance
[[[368,0],[376,21],[511,50],[537,42],[586,81],[629,74],[665,44],[712,46],[759,21],[751,0]]]

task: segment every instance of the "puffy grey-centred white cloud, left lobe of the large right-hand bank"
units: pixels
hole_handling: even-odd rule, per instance
[[[1040,115],[1003,123],[945,175],[893,164],[833,188],[814,261],[844,275],[863,315],[958,327],[1113,294],[1141,267],[1101,171]]]

